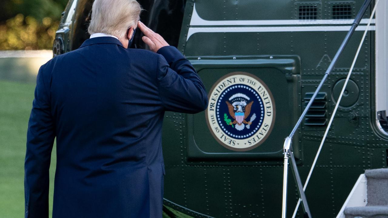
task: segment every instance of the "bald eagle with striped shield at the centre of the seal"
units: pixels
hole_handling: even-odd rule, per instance
[[[251,113],[251,108],[253,104],[253,101],[247,104],[249,100],[250,99],[248,96],[242,93],[237,93],[229,98],[229,101],[231,101],[232,104],[228,101],[225,101],[228,106],[229,115],[234,119],[234,121],[230,121],[229,123],[227,123],[227,125],[233,126],[233,124],[235,124],[234,127],[236,128],[236,130],[239,131],[243,130],[245,127],[247,129],[250,128],[250,125],[256,118],[256,114],[254,113],[251,116],[249,122],[246,121],[246,119],[249,117],[249,114]],[[248,125],[245,126],[244,124]]]

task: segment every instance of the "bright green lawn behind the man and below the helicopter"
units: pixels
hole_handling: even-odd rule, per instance
[[[34,99],[34,84],[0,80],[0,217],[24,217],[24,157],[28,118]],[[54,192],[55,145],[50,165],[50,217]],[[171,208],[169,208],[171,209]],[[189,218],[171,212],[177,217]],[[165,213],[163,217],[167,218]]]

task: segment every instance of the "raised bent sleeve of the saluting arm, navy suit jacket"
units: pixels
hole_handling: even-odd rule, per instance
[[[166,111],[197,113],[208,106],[205,87],[191,63],[172,46],[158,50],[159,96]]]

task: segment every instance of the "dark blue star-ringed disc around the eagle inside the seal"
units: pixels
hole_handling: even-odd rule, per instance
[[[251,125],[249,125],[249,128],[247,128],[248,124],[242,124],[244,127],[242,125],[236,126],[238,125],[237,115],[240,115],[240,118],[238,119],[239,121],[242,120],[241,116],[245,116],[246,105],[244,104],[248,105],[252,101],[253,103],[251,104],[250,113],[244,121],[249,122],[252,116],[256,116],[256,118],[253,119]],[[240,107],[238,107],[239,105]],[[236,119],[231,116],[229,112],[229,109],[231,109],[230,107],[233,107]],[[255,134],[263,124],[263,119],[265,116],[263,100],[255,89],[247,85],[232,85],[221,92],[217,101],[216,115],[218,125],[220,125],[223,132],[229,137],[235,139],[249,138]],[[237,128],[242,129],[238,130]]]

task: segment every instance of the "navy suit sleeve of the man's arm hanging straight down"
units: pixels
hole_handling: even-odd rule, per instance
[[[41,67],[36,78],[35,99],[27,130],[24,162],[26,218],[49,217],[49,168],[55,130],[46,85]]]

